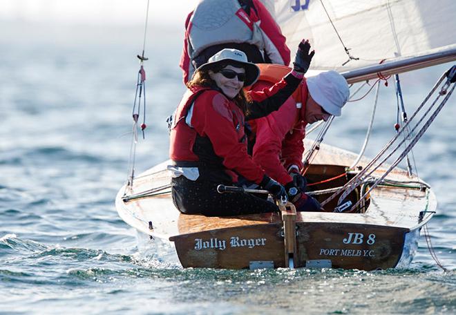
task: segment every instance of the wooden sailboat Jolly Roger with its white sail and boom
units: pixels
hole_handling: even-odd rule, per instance
[[[313,70],[337,70],[349,84],[394,75],[400,90],[399,73],[456,59],[455,21],[445,18],[456,12],[455,1],[441,0],[437,6],[414,0],[278,0],[265,5],[289,47],[310,39],[318,52]],[[292,204],[281,204],[280,213],[184,215],[171,200],[170,161],[132,175],[117,193],[117,211],[140,233],[170,242],[183,267],[408,267],[420,231],[437,209],[433,189],[415,175],[408,155],[448,101],[455,73],[453,66],[415,113],[402,115],[395,137],[372,159],[321,143],[329,124],[316,141],[305,141],[308,193],[324,212],[296,213]]]

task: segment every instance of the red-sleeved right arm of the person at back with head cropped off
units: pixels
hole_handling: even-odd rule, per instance
[[[258,19],[260,20],[260,30],[263,33],[265,53],[273,64],[283,64],[288,66],[290,61],[290,52],[287,44],[285,44],[287,39],[282,35],[281,28],[278,26],[267,8],[265,8],[263,3],[259,0],[254,0],[253,3],[256,12],[258,13]]]

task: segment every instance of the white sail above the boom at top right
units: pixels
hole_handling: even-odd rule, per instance
[[[271,1],[265,3],[272,8]],[[296,48],[303,38],[310,39],[317,52],[312,60],[314,69],[342,73],[377,65],[382,60],[456,49],[455,0],[276,0],[273,3],[273,15],[290,48]],[[348,61],[344,45],[359,60]]]

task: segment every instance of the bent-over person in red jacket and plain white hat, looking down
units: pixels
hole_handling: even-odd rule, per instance
[[[276,67],[276,76],[287,71],[284,68],[287,67]],[[264,73],[251,90],[272,85],[268,80],[274,81],[274,69]],[[343,76],[328,71],[303,80],[297,92],[278,111],[249,121],[252,129],[249,151],[268,176],[285,185],[296,211],[321,211],[319,202],[304,193],[307,182],[301,175],[301,160],[305,126],[319,120],[327,121],[330,115],[340,116],[350,90]]]

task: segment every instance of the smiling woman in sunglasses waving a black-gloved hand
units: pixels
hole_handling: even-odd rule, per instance
[[[248,193],[220,194],[217,186],[242,179],[275,198],[286,198],[284,187],[247,154],[244,124],[277,111],[292,95],[310,66],[314,51],[309,52],[309,42],[302,41],[293,70],[262,91],[243,90],[256,82],[260,70],[240,50],[220,50],[196,69],[171,123],[169,169],[179,211],[235,216],[278,210],[272,202]]]

